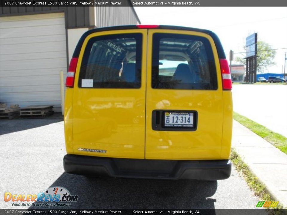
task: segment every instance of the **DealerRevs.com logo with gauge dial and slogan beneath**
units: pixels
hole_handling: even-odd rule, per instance
[[[62,187],[50,187],[38,194],[4,193],[4,201],[11,201],[12,206],[70,206],[70,202],[77,202],[78,197]]]

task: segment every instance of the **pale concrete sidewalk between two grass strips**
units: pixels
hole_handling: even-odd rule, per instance
[[[287,155],[235,120],[232,146],[274,200],[287,207]]]

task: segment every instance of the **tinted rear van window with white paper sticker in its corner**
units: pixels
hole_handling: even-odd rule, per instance
[[[142,35],[90,39],[80,68],[79,87],[140,88]]]

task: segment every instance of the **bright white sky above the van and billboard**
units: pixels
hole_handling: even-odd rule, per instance
[[[286,48],[276,50],[276,65],[267,67],[264,73],[282,73],[282,65],[284,70],[287,7],[135,7],[135,10],[142,24],[212,30],[219,36],[225,53],[229,53],[230,49],[234,53],[244,52],[245,38],[258,33],[258,40],[267,42],[273,49]],[[235,54],[236,56],[242,54]]]

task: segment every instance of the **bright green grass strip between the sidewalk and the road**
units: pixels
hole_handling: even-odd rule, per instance
[[[253,131],[257,135],[261,136],[263,139],[270,142],[276,148],[287,154],[287,138],[285,136],[279,133],[275,133],[264,127],[263,125],[260,125],[257,122],[254,122],[251,119],[240,115],[239,113],[233,112],[233,118],[249,130]]]

